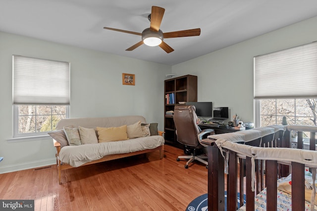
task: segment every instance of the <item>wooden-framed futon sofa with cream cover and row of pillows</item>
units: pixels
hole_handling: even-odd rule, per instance
[[[142,116],[62,119],[48,132],[56,147],[58,182],[61,170],[159,150],[164,138],[157,124]]]

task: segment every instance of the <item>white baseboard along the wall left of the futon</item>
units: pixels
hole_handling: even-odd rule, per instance
[[[56,158],[47,159],[47,160],[41,160],[41,161],[34,161],[34,162],[21,163],[21,164],[10,165],[10,166],[3,166],[3,167],[0,167],[0,173],[8,173],[8,172],[13,172],[13,171],[18,171],[18,170],[45,167],[45,166],[50,166],[50,165],[53,165],[53,164],[56,164]]]

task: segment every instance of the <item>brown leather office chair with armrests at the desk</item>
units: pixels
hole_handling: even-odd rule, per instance
[[[203,137],[205,134],[214,134],[214,130],[206,129],[201,131],[197,125],[198,117],[195,113],[194,105],[175,106],[173,119],[176,127],[177,141],[184,144],[185,147],[190,148],[192,151],[191,155],[178,156],[176,161],[180,161],[180,159],[189,159],[185,165],[185,169],[188,169],[188,165],[197,160],[205,164],[208,169],[208,162],[203,160],[208,159],[208,157],[198,155],[199,151],[204,148],[199,142],[199,136]]]

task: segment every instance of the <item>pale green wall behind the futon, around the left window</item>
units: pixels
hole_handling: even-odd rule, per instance
[[[12,54],[70,62],[70,117],[142,115],[163,130],[165,75],[171,66],[0,32],[0,173],[55,163],[52,139],[12,138]],[[121,74],[135,74],[135,86]]]

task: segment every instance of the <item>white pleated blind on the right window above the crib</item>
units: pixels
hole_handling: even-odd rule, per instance
[[[254,98],[316,98],[317,42],[254,57]]]

